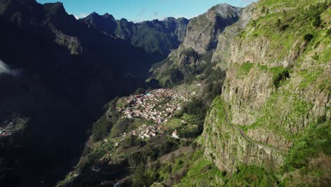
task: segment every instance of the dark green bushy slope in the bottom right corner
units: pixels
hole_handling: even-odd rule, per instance
[[[329,186],[331,158],[330,120],[310,125],[294,143],[281,172],[281,186]]]

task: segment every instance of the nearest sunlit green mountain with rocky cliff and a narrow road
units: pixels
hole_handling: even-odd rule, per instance
[[[259,1],[252,15],[226,57],[204,155],[229,186],[329,186],[330,2]]]

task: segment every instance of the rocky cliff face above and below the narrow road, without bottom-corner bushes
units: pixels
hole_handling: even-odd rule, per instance
[[[316,4],[287,2],[281,10],[278,3],[259,1],[252,21],[231,43],[222,99],[214,101],[204,127],[205,155],[219,169],[233,172],[238,160],[278,167],[286,154],[249,145],[215,115],[221,110],[217,103],[252,140],[283,150],[291,149],[308,125],[330,120],[330,11],[315,10],[321,20],[315,24],[305,8],[313,11]],[[220,59],[217,50],[214,60]]]

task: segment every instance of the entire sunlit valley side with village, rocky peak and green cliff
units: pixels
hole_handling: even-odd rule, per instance
[[[330,186],[330,33],[328,1],[192,18],[163,89],[110,101],[57,186]]]

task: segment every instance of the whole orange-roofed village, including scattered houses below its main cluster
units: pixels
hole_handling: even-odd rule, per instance
[[[194,96],[196,93],[192,92],[190,95],[175,91],[173,89],[156,89],[147,94],[139,94],[124,98],[125,107],[115,108],[122,113],[122,118],[129,119],[146,119],[153,122],[153,125],[140,125],[136,130],[123,132],[112,140],[104,139],[103,144],[113,144],[114,147],[120,147],[122,142],[127,137],[134,136],[143,140],[148,140],[157,135],[165,135],[165,123],[173,117],[176,111],[182,110],[182,103],[189,100],[189,96]],[[185,123],[185,122],[181,122]],[[180,139],[177,130],[170,132],[168,137]],[[117,164],[113,159],[111,153],[105,154],[100,158],[100,164]],[[93,165],[92,171],[100,171],[100,167]]]

